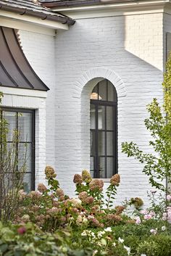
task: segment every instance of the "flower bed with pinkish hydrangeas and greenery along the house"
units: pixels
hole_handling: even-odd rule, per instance
[[[83,170],[73,180],[75,198],[60,189],[53,168],[46,167],[45,174],[49,187],[39,184],[28,194],[20,190],[12,222],[0,224],[0,255],[171,255],[170,195],[156,203],[152,191],[147,210],[138,197],[113,207],[118,174],[104,197],[103,181]],[[131,218],[130,205],[135,208]]]

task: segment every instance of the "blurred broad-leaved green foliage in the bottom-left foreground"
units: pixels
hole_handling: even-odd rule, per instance
[[[63,230],[43,234],[32,223],[25,224],[25,233],[20,226],[2,226],[0,223],[1,256],[91,256],[92,249],[72,250],[68,246],[70,233]]]

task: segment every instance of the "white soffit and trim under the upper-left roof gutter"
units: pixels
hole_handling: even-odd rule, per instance
[[[55,30],[68,30],[67,24],[53,20],[41,20],[28,15],[18,15],[13,12],[0,10],[0,24],[7,28],[28,30],[36,33],[43,33],[55,36]]]

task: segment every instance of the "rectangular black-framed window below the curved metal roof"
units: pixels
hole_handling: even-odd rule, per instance
[[[1,118],[7,120],[9,133],[7,144],[12,144],[14,129],[19,132],[17,168],[26,162],[23,186],[25,191],[35,189],[35,112],[34,110],[1,108]],[[7,145],[8,146],[8,145]]]

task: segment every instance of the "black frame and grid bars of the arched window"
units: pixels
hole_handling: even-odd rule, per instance
[[[113,132],[113,141],[115,141],[115,143],[113,143],[113,156],[111,156],[113,158],[113,173],[112,175],[118,173],[118,140],[117,140],[117,91],[116,88],[113,86],[113,94],[116,96],[116,100],[114,101],[108,101],[108,87],[109,87],[109,80],[104,79],[106,81],[106,95],[107,95],[107,100],[101,100],[99,99],[99,83],[96,84],[97,86],[97,96],[98,99],[90,99],[90,105],[93,104],[95,106],[95,120],[96,120],[96,128],[95,129],[90,129],[90,131],[95,131],[95,149],[97,150],[96,154],[97,156],[93,156],[90,153],[90,157],[94,158],[94,162],[93,162],[93,169],[91,170],[91,172],[93,172],[93,177],[94,178],[100,178],[100,170],[99,170],[99,157],[104,157],[105,158],[105,179],[108,178],[107,177],[107,157],[110,157],[107,155],[107,132]],[[102,81],[104,81],[102,80]],[[94,88],[96,88],[96,86],[94,86]],[[94,90],[93,88],[93,90]],[[93,91],[92,91],[93,93]],[[104,106],[105,107],[105,129],[102,129],[101,131],[105,132],[105,155],[104,156],[99,156],[99,152],[98,152],[98,107],[99,106]],[[113,130],[108,130],[107,129],[107,107],[111,106],[113,107]],[[96,169],[96,170],[95,170]]]

